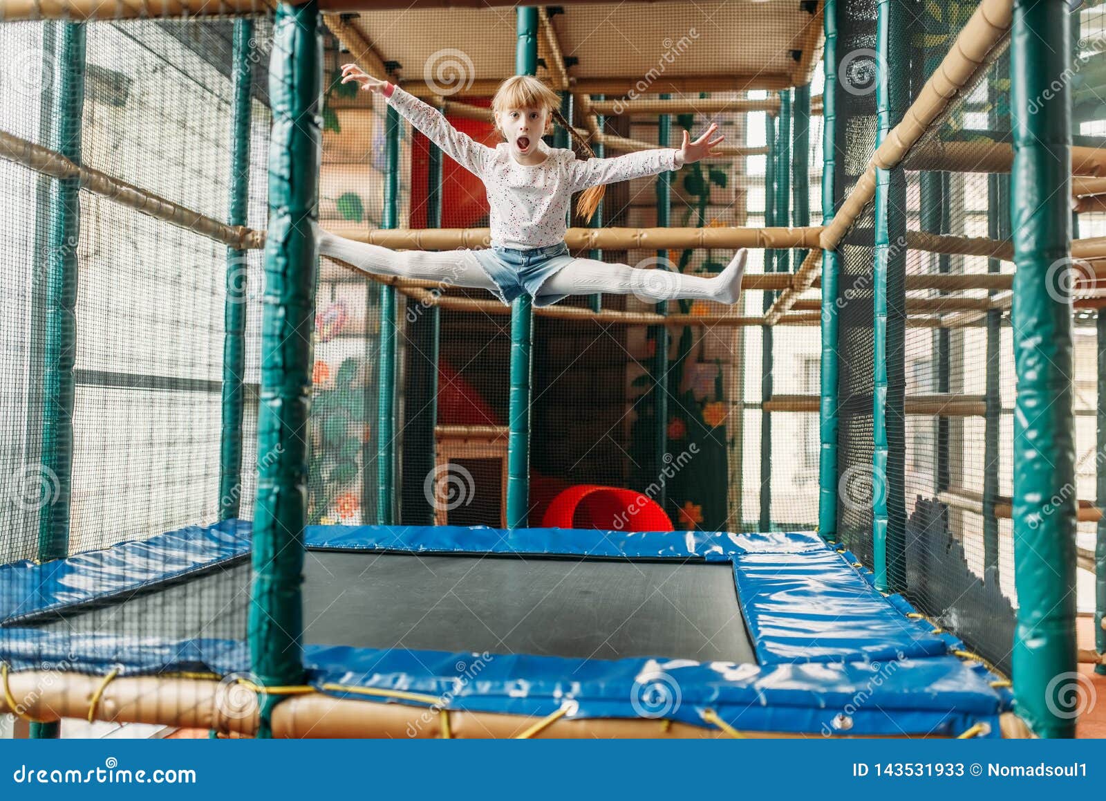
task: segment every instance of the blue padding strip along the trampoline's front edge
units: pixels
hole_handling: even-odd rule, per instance
[[[239,641],[156,643],[10,630],[0,643],[17,670],[43,662],[81,673],[119,669],[121,675],[249,670],[249,648]],[[354,700],[387,700],[366,697],[358,688],[403,690],[439,698],[438,706],[449,709],[546,716],[568,705],[568,718],[635,718],[643,708],[657,709],[648,699],[660,690],[667,719],[703,725],[702,714],[712,709],[751,731],[953,736],[987,722],[987,736],[998,736],[999,716],[1010,708],[1009,694],[990,687],[990,674],[952,656],[758,667],[307,646],[304,665],[320,691]]]

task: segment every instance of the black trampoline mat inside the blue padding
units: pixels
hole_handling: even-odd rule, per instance
[[[728,563],[312,551],[304,578],[309,644],[755,663]],[[243,562],[41,627],[242,638],[248,584]]]

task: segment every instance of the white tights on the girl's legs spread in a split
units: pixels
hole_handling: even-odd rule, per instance
[[[486,289],[495,284],[471,253],[463,250],[390,250],[379,245],[319,231],[319,252],[377,275],[396,275],[442,284]],[[727,269],[713,278],[646,270],[595,259],[573,259],[546,279],[542,294],[634,294],[643,300],[710,300],[733,303],[741,292],[745,251],[739,250]]]

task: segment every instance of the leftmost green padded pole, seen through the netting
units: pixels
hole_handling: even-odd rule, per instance
[[[81,163],[84,113],[85,27],[48,22],[43,31],[43,71],[49,71],[44,103],[50,105],[44,144]],[[44,277],[42,365],[42,469],[48,495],[40,498],[41,562],[69,555],[70,498],[73,477],[73,364],[76,357],[76,243],[81,235],[80,184],[50,180],[41,230]],[[55,739],[61,724],[32,722],[33,739]]]

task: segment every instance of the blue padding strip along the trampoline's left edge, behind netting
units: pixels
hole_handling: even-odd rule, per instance
[[[188,526],[38,564],[0,565],[0,623],[181,579],[250,552],[251,524]]]

